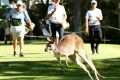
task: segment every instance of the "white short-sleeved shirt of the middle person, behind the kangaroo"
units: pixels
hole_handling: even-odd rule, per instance
[[[54,4],[48,7],[48,14],[54,11]],[[65,8],[62,5],[58,5],[55,13],[50,17],[52,23],[61,23],[64,15],[66,14]]]

